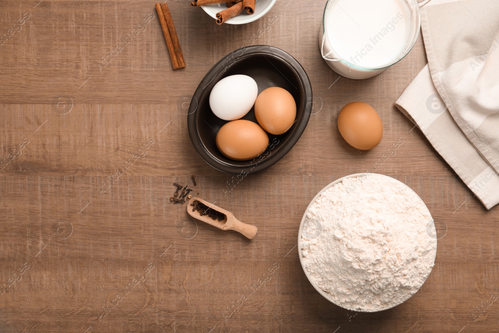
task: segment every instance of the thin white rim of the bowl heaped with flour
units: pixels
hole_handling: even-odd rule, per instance
[[[379,175],[379,174],[374,174],[374,173],[370,173],[370,174],[373,174],[373,175]],[[310,204],[308,204],[307,206],[307,209],[305,210],[305,213],[303,213],[303,217],[301,218],[301,223],[300,223],[300,228],[298,229],[298,256],[300,257],[300,264],[301,264],[301,268],[303,269],[303,272],[305,272],[305,275],[308,279],[308,282],[310,282],[310,284],[313,286],[313,288],[315,288],[315,290],[320,294],[322,295],[326,300],[328,300],[329,302],[333,303],[334,305],[337,305],[338,307],[341,307],[343,309],[346,309],[344,307],[342,307],[341,305],[337,304],[334,302],[334,300],[332,299],[332,297],[324,292],[322,289],[320,289],[317,285],[315,285],[313,282],[312,282],[312,279],[310,278],[310,274],[308,273],[307,269],[305,268],[305,265],[303,264],[303,257],[301,255],[301,234],[302,234],[302,231],[303,231],[303,225],[304,225],[304,222],[305,222],[305,217],[307,215],[307,212],[308,212],[308,209],[310,208],[310,206],[312,206],[312,204],[315,202],[315,200],[317,200],[317,198],[322,194],[322,192],[324,192],[325,190],[327,190],[328,188],[330,188],[331,186],[335,185],[335,184],[338,184],[339,182],[341,182],[343,179],[346,179],[346,178],[353,178],[353,177],[361,177],[361,176],[365,176],[365,175],[368,175],[368,173],[355,173],[353,175],[349,175],[349,176],[345,176],[345,177],[341,177],[339,179],[336,179],[334,182],[332,182],[331,184],[327,185],[326,187],[324,187],[322,190],[319,191],[319,193],[317,193],[317,195],[312,199],[312,201],[310,201]],[[402,183],[400,182],[399,180],[395,179],[395,178],[392,178],[392,177],[389,177],[389,176],[386,176],[386,175],[381,175],[381,176],[384,176],[384,177],[388,177],[392,180],[394,180],[395,182],[399,182],[399,183]],[[404,184],[404,183],[402,183]],[[406,184],[404,184],[408,189],[410,189],[411,191],[413,191],[409,186],[407,186]],[[414,192],[414,191],[413,191]],[[414,192],[414,194],[416,194],[416,196],[418,196],[418,194],[416,192]],[[419,196],[418,196],[419,198]],[[420,198],[421,199],[421,198]],[[421,200],[423,201],[423,200]],[[433,219],[431,220],[431,223],[433,224],[433,226],[431,226],[433,229],[435,228],[435,223],[433,222]],[[432,229],[432,230],[433,230]],[[428,229],[427,229],[428,230]],[[427,277],[428,278],[428,277]],[[413,294],[414,295],[414,294]],[[407,299],[405,299],[404,301],[400,302],[399,304],[396,304],[392,307],[386,307],[386,308],[383,308],[383,309],[380,309],[380,310],[377,310],[377,311],[372,311],[372,312],[379,312],[379,311],[385,311],[385,310],[388,310],[388,309],[391,309],[391,308],[395,308],[396,306],[404,303],[405,301],[407,301],[408,299],[410,299],[413,295],[411,295],[410,297],[408,297]],[[346,310],[351,310],[351,311],[356,311],[356,312],[371,312],[371,311],[360,311],[360,310],[354,310],[354,309],[346,309]]]

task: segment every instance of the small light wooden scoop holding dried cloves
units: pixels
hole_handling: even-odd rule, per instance
[[[222,221],[213,220],[208,215],[201,215],[197,210],[195,210],[193,212],[192,211],[193,206],[191,206],[191,204],[194,203],[195,200],[205,204],[206,206],[208,206],[209,208],[211,208],[213,210],[216,210],[222,214],[225,214],[225,216],[226,216],[225,219],[223,219]],[[258,231],[258,228],[256,228],[255,226],[243,223],[243,222],[239,221],[238,219],[236,219],[234,217],[234,214],[232,214],[231,212],[229,212],[223,208],[220,208],[218,206],[215,206],[215,205],[209,203],[208,201],[205,201],[205,200],[197,198],[197,197],[192,197],[191,200],[189,200],[189,202],[187,203],[187,213],[189,213],[189,215],[191,215],[193,218],[198,219],[200,221],[203,221],[205,223],[211,224],[212,226],[217,227],[219,229],[234,230],[234,231],[240,232],[243,235],[245,235],[246,237],[248,237],[249,239],[253,239],[254,236],[256,236],[256,232]]]

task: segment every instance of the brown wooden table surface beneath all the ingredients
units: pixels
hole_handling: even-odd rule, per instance
[[[325,1],[277,1],[239,26],[189,2],[168,2],[180,70],[154,1],[0,2],[0,332],[498,332],[498,208],[487,211],[394,106],[426,63],[421,36],[381,75],[352,80],[320,57]],[[229,187],[232,175],[195,151],[186,114],[205,73],[250,44],[302,64],[314,111],[282,160]],[[371,151],[334,126],[356,100],[383,120]],[[296,240],[320,189],[368,169],[421,196],[438,252],[410,300],[355,314],[312,288]],[[169,201],[191,174],[195,194],[258,227],[254,240],[196,224]]]

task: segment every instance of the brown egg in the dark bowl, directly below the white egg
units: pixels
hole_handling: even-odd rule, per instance
[[[255,158],[263,153],[267,146],[267,133],[250,120],[229,121],[217,133],[217,147],[220,152],[236,161]]]

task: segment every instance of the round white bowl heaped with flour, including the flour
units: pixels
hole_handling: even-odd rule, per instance
[[[405,302],[435,264],[435,225],[421,198],[404,183],[359,173],[323,188],[298,231],[308,281],[347,310],[383,311]]]

